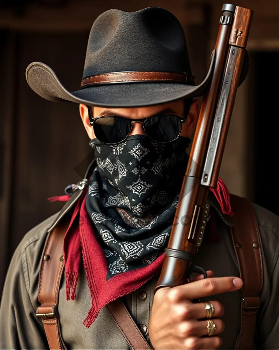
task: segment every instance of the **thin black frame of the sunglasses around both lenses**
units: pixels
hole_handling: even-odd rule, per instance
[[[179,131],[179,134],[177,135],[177,137],[176,137],[175,139],[173,139],[173,140],[171,140],[171,141],[156,141],[156,140],[152,139],[152,138],[148,135],[148,133],[146,132],[145,127],[144,127],[145,122],[146,122],[147,119],[154,118],[154,117],[163,117],[163,116],[165,116],[165,115],[166,115],[166,116],[174,116],[174,117],[179,118],[179,120],[180,120],[180,131]],[[144,128],[144,131],[145,131],[146,135],[147,135],[147,136],[149,137],[149,139],[151,139],[152,141],[158,142],[159,144],[168,144],[169,142],[173,142],[173,141],[175,141],[175,140],[177,140],[177,139],[179,138],[180,133],[181,133],[181,129],[182,129],[182,124],[185,123],[185,120],[187,119],[187,117],[186,117],[186,118],[182,118],[182,117],[177,116],[176,114],[162,114],[161,116],[160,116],[160,115],[159,115],[159,116],[151,116],[151,117],[142,118],[142,119],[128,119],[128,118],[120,117],[120,116],[102,116],[102,117],[92,118],[92,117],[91,117],[91,112],[90,112],[90,107],[89,107],[89,106],[88,106],[88,117],[89,117],[89,123],[90,123],[90,125],[93,126],[93,130],[94,130],[94,124],[95,124],[96,120],[101,119],[101,118],[121,118],[121,119],[127,120],[127,121],[130,123],[130,131],[128,132],[128,135],[127,135],[123,140],[121,140],[121,141],[119,141],[119,142],[113,142],[113,143],[103,142],[103,141],[99,140],[99,139],[96,137],[100,142],[103,142],[104,144],[107,144],[107,145],[117,145],[117,144],[121,144],[121,142],[124,142],[124,141],[127,139],[127,137],[130,135],[130,133],[131,133],[131,130],[132,130],[132,127],[133,127],[133,124],[131,123],[132,121],[141,122],[141,123],[143,124],[143,128]],[[95,131],[94,131],[94,132],[95,132]]]

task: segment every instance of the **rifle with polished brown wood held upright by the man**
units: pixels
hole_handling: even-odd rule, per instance
[[[209,214],[207,196],[216,187],[253,12],[224,4],[211,64],[211,83],[198,116],[188,166],[155,292],[187,283]],[[213,60],[213,62],[212,62]]]

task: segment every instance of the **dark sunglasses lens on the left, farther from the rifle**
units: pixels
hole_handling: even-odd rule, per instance
[[[93,129],[96,138],[106,144],[117,144],[130,133],[130,123],[125,118],[102,117],[95,120]]]

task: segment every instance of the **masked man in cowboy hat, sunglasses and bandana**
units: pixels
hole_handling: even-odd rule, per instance
[[[210,71],[194,85],[182,27],[171,13],[155,7],[109,10],[97,18],[81,90],[68,92],[42,63],[28,66],[27,81],[42,97],[79,103],[97,161],[88,190],[67,209],[71,220],[58,303],[67,348],[128,349],[106,307],[120,297],[154,349],[235,348],[243,282],[230,238],[230,203],[222,195],[209,195],[211,232],[195,258],[209,278],[161,288],[153,296],[187,165],[188,137],[197,121],[193,97],[209,78]],[[275,349],[279,219],[254,208],[264,286],[253,346]],[[36,310],[43,247],[56,216],[29,231],[14,253],[1,302],[0,348],[48,348]],[[213,242],[214,225],[218,239]],[[207,318],[215,325],[211,334]]]

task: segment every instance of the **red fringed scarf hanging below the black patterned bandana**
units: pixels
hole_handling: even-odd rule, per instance
[[[232,216],[229,191],[223,180],[218,179],[217,188],[210,189],[215,195],[223,214]],[[69,228],[64,237],[64,261],[66,276],[66,298],[76,298],[76,286],[80,271],[81,257],[85,269],[86,280],[90,290],[92,305],[84,320],[84,325],[90,327],[95,321],[100,309],[108,303],[140,288],[151,279],[162,267],[162,253],[150,265],[137,270],[123,272],[106,280],[107,261],[85,207],[87,191],[77,202]],[[67,197],[67,198],[66,198]],[[67,201],[70,196],[49,198],[50,201]],[[71,295],[70,295],[71,294]]]

